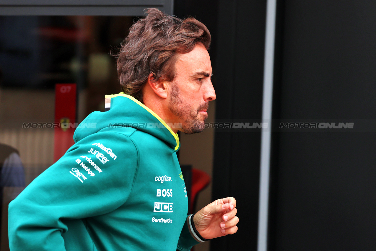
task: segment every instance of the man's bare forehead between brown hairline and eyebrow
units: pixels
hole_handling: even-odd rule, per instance
[[[192,51],[179,54],[175,68],[178,75],[196,72],[211,74],[212,68],[209,53],[202,44],[197,44]]]

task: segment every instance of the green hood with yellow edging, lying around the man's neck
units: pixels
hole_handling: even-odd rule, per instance
[[[74,142],[105,128],[132,127],[165,141],[174,151],[180,148],[179,137],[161,117],[130,95],[106,95],[106,112],[92,112],[74,131]],[[114,129],[116,130],[116,129]]]

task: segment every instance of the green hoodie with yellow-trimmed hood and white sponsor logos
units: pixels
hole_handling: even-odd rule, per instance
[[[12,251],[172,251],[199,243],[186,220],[177,134],[129,95],[106,95],[106,103],[111,109],[82,121],[76,144],[9,204]]]

